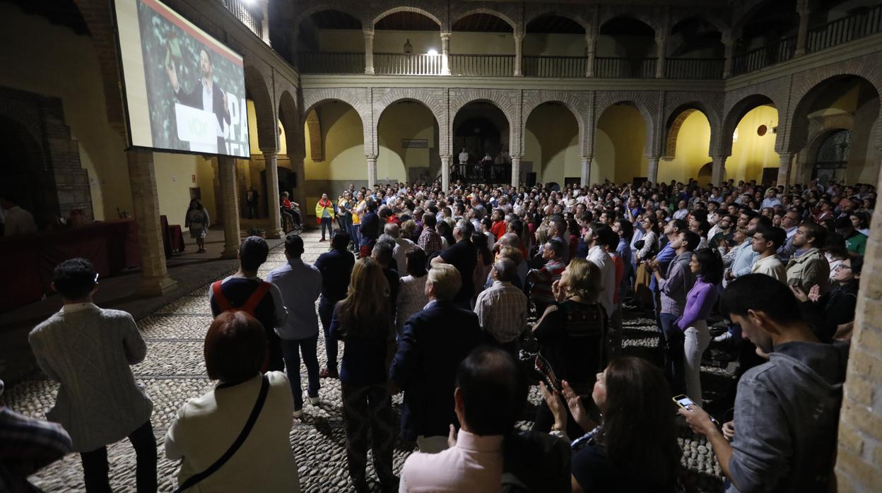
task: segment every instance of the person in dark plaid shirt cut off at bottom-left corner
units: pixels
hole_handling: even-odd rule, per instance
[[[0,380],[0,395],[3,394]],[[71,437],[56,422],[19,415],[0,402],[0,491],[32,491],[27,476],[71,452]]]

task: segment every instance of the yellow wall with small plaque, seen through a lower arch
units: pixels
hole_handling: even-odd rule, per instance
[[[377,128],[377,180],[407,182],[407,168],[429,168],[435,143],[435,117],[417,102],[393,104],[380,116]],[[426,148],[404,148],[402,138],[425,138]]]

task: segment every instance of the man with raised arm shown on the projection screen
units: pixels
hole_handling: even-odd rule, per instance
[[[227,93],[225,93],[221,87],[214,84],[214,67],[212,64],[212,58],[208,55],[208,51],[206,49],[199,50],[200,77],[198,84],[194,85],[190,92],[182,90],[181,84],[177,79],[175,63],[172,63],[172,59],[171,56],[166,57],[166,60],[168,60],[166,62],[166,73],[168,74],[168,81],[171,83],[172,89],[175,90],[177,101],[180,101],[181,104],[185,104],[191,108],[211,111],[214,116],[217,116],[218,133],[222,134],[223,123],[230,123],[229,107],[227,106]],[[191,150],[196,151],[201,149],[194,149],[191,144]],[[217,152],[227,152],[226,147],[224,146],[223,135],[218,135]]]

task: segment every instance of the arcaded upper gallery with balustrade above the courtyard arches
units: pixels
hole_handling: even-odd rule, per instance
[[[832,0],[822,7],[800,12],[796,0],[774,0],[734,26],[692,16],[671,19],[663,32],[637,16],[613,17],[594,29],[554,14],[519,32],[503,16],[482,12],[451,19],[446,33],[417,12],[397,11],[363,26],[329,9],[302,19],[293,62],[311,74],[720,79],[882,33],[882,4]]]

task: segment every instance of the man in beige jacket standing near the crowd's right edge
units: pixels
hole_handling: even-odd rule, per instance
[[[820,247],[826,242],[826,229],[816,222],[806,221],[796,228],[793,247],[796,251],[787,263],[787,283],[808,293],[816,284],[826,293],[830,264]]]

